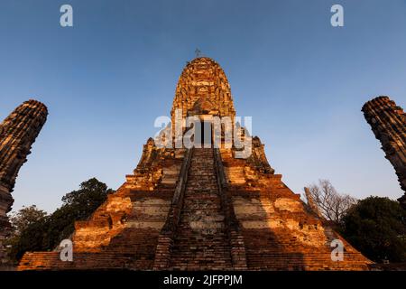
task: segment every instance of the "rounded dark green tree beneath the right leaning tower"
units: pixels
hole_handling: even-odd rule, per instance
[[[341,226],[343,237],[371,260],[406,261],[406,210],[398,201],[359,200],[347,211]]]

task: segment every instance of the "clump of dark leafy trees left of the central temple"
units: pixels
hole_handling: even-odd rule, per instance
[[[7,241],[9,256],[17,262],[27,251],[54,249],[73,233],[76,220],[88,219],[113,192],[106,183],[92,178],[82,182],[78,191],[67,193],[62,198],[62,206],[51,215],[35,206],[19,210],[14,219],[15,233]]]

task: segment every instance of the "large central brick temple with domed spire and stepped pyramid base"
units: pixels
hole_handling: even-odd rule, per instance
[[[180,108],[181,117],[207,122],[235,118],[230,87],[216,61],[188,63],[172,120]],[[248,158],[236,158],[237,153],[235,146],[162,148],[150,138],[134,173],[90,219],[76,222],[73,261],[60,261],[59,252],[26,253],[19,269],[368,268],[371,261],[281,182],[258,137],[252,138]],[[345,245],[343,261],[331,259],[334,239]]]

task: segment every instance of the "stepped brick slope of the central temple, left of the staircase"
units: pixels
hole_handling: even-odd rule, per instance
[[[159,233],[167,219],[185,150],[161,150],[148,140],[133,175],[92,217],[77,221],[74,261],[59,252],[26,253],[19,270],[152,269]],[[161,172],[155,178],[149,172]]]

